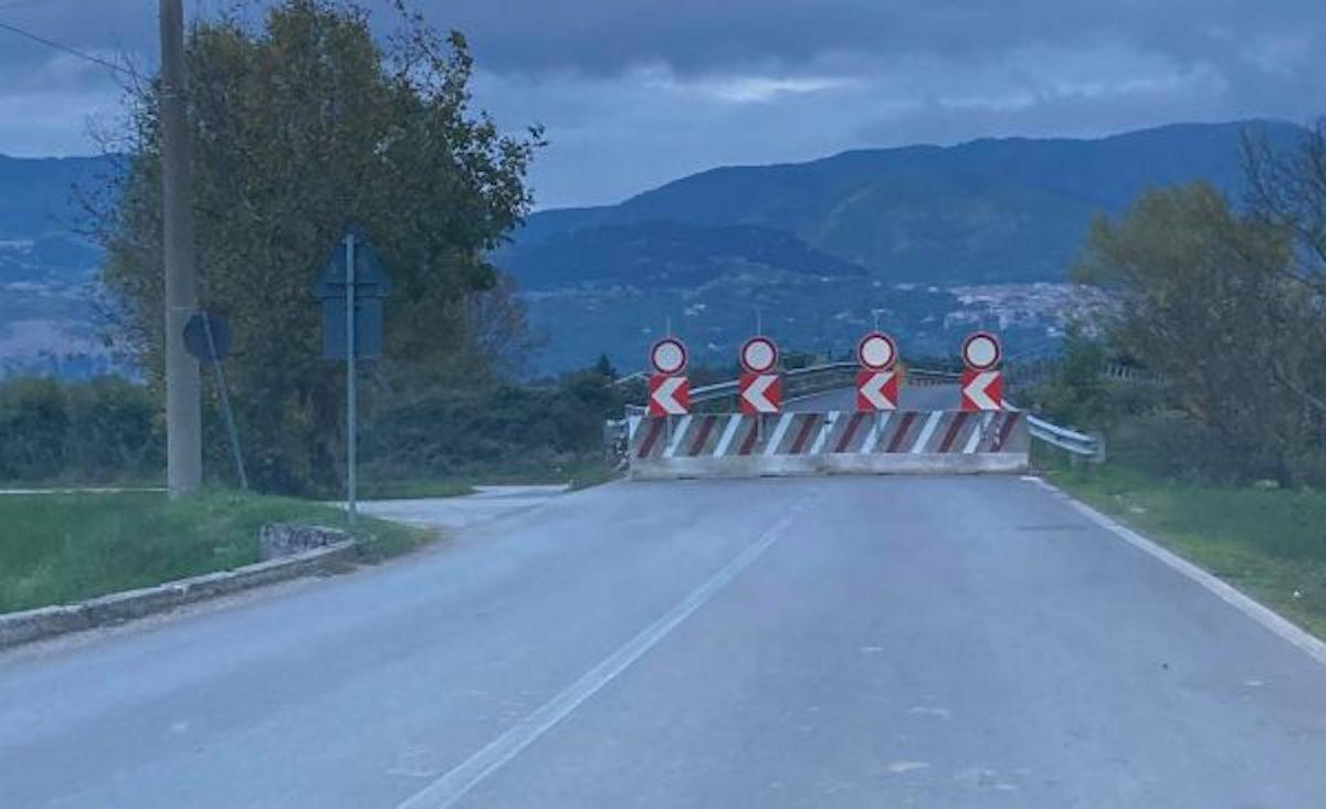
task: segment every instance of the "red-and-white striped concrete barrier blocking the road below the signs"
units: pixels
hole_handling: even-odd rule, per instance
[[[631,477],[976,473],[1028,468],[1020,411],[691,414],[631,418]]]

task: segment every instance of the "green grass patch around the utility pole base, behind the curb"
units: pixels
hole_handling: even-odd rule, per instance
[[[0,613],[68,603],[259,561],[265,523],[342,527],[335,508],[229,491],[0,496]],[[361,556],[377,561],[432,533],[362,517]]]

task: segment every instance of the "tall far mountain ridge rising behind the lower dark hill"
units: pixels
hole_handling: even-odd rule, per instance
[[[511,256],[518,263],[549,239],[609,224],[745,224],[785,231],[891,281],[1061,280],[1097,211],[1196,178],[1237,195],[1245,130],[1281,143],[1302,131],[1181,123],[1094,141],[984,139],[715,168],[618,206],[536,214]]]

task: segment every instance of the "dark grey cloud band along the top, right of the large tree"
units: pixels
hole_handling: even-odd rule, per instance
[[[977,56],[1029,44],[1122,38],[1176,58],[1225,48],[1216,32],[1318,31],[1319,0],[448,0],[439,24],[472,36],[501,72],[617,73],[663,62],[682,73],[835,50]]]

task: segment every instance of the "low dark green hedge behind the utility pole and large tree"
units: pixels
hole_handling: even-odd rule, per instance
[[[436,479],[456,473],[536,469],[597,456],[603,420],[617,418],[639,386],[611,385],[595,370],[533,386],[361,393],[359,467],[365,480]],[[160,403],[146,386],[106,377],[88,382],[24,378],[0,383],[0,480],[24,484],[159,480],[164,468]],[[241,414],[243,415],[243,414]],[[233,481],[229,444],[216,402],[204,402],[210,480]],[[276,448],[245,432],[240,443],[259,488],[338,493],[345,451],[326,435],[330,484],[318,485],[280,464]]]

